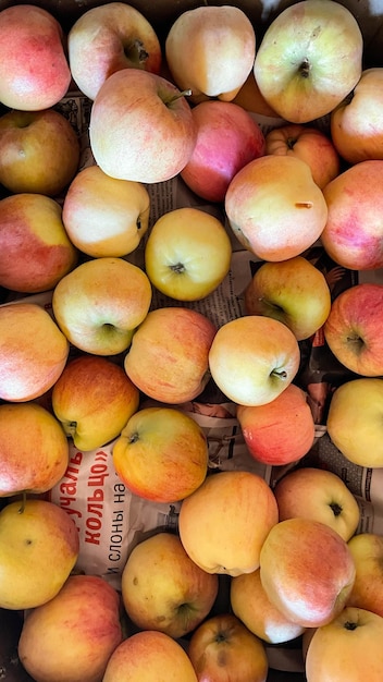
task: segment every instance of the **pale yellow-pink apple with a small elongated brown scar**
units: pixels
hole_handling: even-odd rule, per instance
[[[261,260],[299,256],[320,238],[328,219],[323,192],[309,166],[272,154],[234,175],[225,210],[239,243]]]

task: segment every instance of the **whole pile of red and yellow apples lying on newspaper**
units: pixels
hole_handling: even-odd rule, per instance
[[[337,475],[294,465],[316,428],[301,342],[321,337],[345,377],[328,434],[383,466],[383,69],[362,69],[358,23],[332,0],[260,28],[201,5],[161,45],[123,2],[67,35],[33,4],[0,12],[0,607],[24,616],[36,682],[265,682],[268,647],[292,641],[308,682],[382,679],[383,538],[358,533]],[[85,167],[59,111],[74,87],[90,101]],[[255,112],[279,124],[263,133]],[[196,206],[151,220],[149,187],[174,179]],[[370,281],[333,296],[317,243]],[[234,247],[260,267],[218,327],[198,303]],[[209,382],[251,458],[293,465],[274,488],[210,470],[183,410]],[[134,547],[121,589],[76,571],[74,521],[46,497],[70,442],[113,442],[132,494],[181,502],[176,533]]]

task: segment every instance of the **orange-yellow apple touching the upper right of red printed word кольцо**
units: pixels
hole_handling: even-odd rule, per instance
[[[113,444],[114,468],[123,484],[157,502],[176,502],[194,492],[207,476],[208,461],[202,428],[175,407],[138,410]]]

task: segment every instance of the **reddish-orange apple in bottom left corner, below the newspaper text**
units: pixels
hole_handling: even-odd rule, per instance
[[[119,593],[98,575],[70,575],[26,614],[17,653],[36,682],[100,682],[122,638]]]

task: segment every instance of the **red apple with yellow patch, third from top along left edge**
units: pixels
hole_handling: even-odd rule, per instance
[[[42,194],[0,200],[0,285],[22,293],[53,289],[78,260],[60,204]]]

